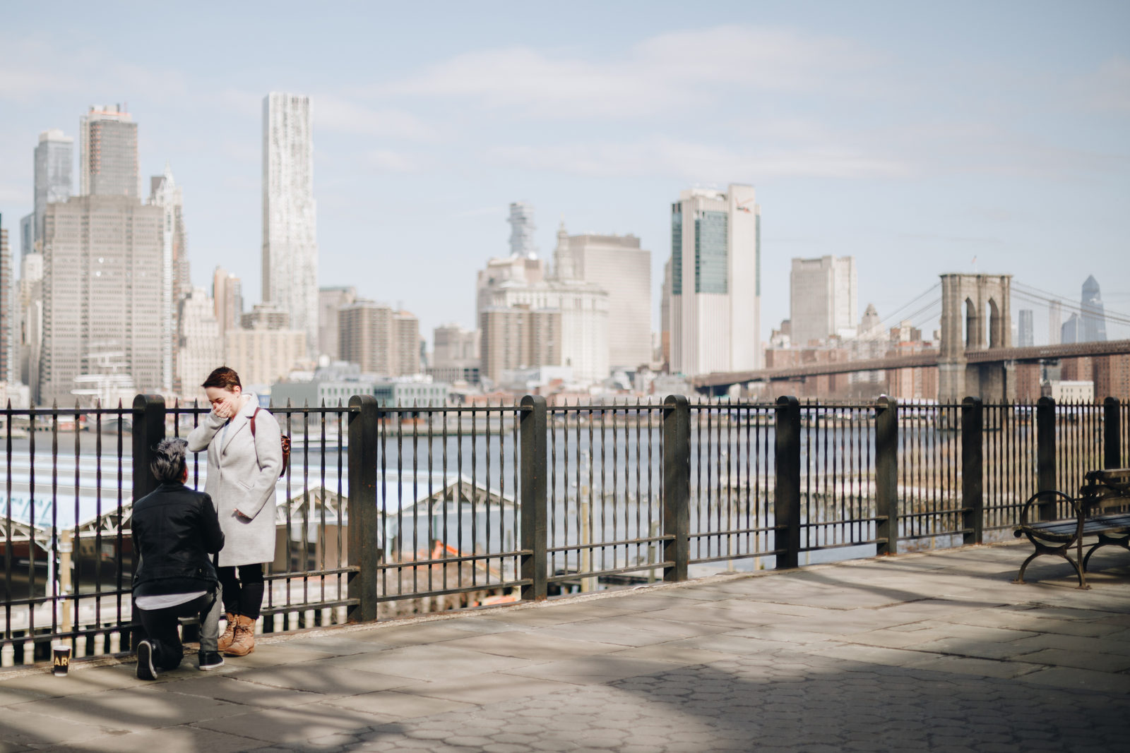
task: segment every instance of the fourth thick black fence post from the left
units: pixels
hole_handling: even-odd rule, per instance
[[[663,580],[687,579],[690,560],[690,402],[663,401]]]

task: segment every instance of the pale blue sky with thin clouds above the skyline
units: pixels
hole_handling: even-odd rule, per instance
[[[38,133],[77,135],[89,105],[123,103],[145,186],[168,163],[183,189],[193,282],[224,265],[250,308],[262,99],[290,91],[314,111],[319,284],[401,306],[428,339],[475,325],[475,273],[508,254],[512,201],[536,208],[542,259],[563,221],[638,236],[659,329],[670,204],[730,183],[762,210],[763,340],[789,316],[790,260],[824,255],[855,257],[859,313],[890,325],[929,332],[938,275],[974,271],[1014,275],[1037,344],[1031,296],[1077,305],[1090,274],[1130,321],[1128,2],[185,8],[0,6],[14,248]]]

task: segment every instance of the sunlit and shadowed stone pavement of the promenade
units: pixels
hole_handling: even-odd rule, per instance
[[[1130,747],[1130,561],[1020,545],[261,641],[212,673],[0,674],[0,751]],[[106,663],[111,664],[106,664]]]

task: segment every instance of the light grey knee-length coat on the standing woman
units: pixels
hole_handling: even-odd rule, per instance
[[[208,449],[205,491],[216,502],[224,531],[221,568],[275,559],[275,482],[282,470],[281,432],[275,417],[260,410],[252,438],[251,415],[259,397],[243,394],[250,400],[229,422],[208,413],[189,434],[190,452]],[[227,430],[221,431],[225,423]],[[251,519],[240,518],[236,510]]]

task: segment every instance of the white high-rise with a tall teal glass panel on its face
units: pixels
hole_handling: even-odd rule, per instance
[[[671,371],[759,368],[760,208],[748,185],[671,204]]]

